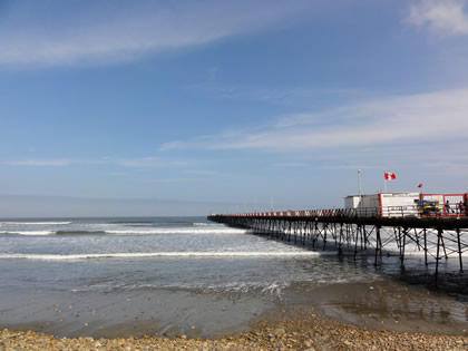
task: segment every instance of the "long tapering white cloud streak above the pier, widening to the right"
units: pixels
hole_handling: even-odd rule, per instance
[[[257,133],[202,136],[168,148],[313,150],[465,138],[468,89],[380,98],[319,114],[282,117]]]

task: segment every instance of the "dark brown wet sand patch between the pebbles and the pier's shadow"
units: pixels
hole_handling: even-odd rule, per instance
[[[468,303],[398,281],[311,287],[296,284],[283,303],[372,330],[468,335]]]

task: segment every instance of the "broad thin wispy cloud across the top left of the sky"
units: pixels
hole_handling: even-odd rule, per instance
[[[296,13],[305,1],[139,1],[89,13],[61,9],[67,21],[33,21],[19,11],[0,35],[0,64],[70,65],[130,60],[150,52],[206,45],[263,30]],[[47,6],[35,3],[36,7]],[[84,7],[87,9],[88,7]],[[53,9],[52,9],[53,11]],[[18,11],[17,11],[18,12]],[[25,12],[25,10],[23,10]],[[28,11],[26,11],[28,12]]]

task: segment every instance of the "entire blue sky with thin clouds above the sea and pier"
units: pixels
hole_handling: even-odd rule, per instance
[[[468,192],[468,0],[0,0],[0,217]]]

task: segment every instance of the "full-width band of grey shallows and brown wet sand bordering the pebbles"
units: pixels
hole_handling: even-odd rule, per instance
[[[369,330],[446,335],[466,335],[468,330],[466,299],[393,280],[322,285],[298,282],[285,287],[281,298],[177,290],[49,293],[29,300],[28,294],[19,293],[0,296],[0,330],[31,330],[56,338],[185,334],[214,339],[247,332],[266,315],[310,309],[328,320]]]

